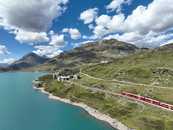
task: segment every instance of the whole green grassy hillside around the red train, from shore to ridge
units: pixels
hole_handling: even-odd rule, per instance
[[[136,130],[172,130],[173,113],[109,93],[127,91],[173,104],[173,44],[141,50],[109,63],[84,64],[80,79],[42,77],[46,91],[83,102]]]

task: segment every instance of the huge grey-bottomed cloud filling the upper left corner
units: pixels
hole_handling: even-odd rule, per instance
[[[0,26],[15,34],[21,43],[48,42],[46,34],[53,20],[69,0],[0,0]]]

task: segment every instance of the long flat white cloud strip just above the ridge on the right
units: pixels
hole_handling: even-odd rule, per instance
[[[129,32],[129,33],[124,33],[122,35],[114,34],[114,35],[108,35],[104,37],[104,39],[107,39],[107,40],[117,39],[119,41],[135,44],[138,47],[149,47],[149,48],[155,48],[155,47],[161,46],[162,44],[172,43],[171,42],[172,38],[173,38],[173,33],[158,34],[152,31],[146,35],[142,35],[138,32]]]

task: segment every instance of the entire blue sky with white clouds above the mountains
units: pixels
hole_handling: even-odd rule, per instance
[[[172,0],[0,0],[0,63],[53,57],[89,41],[172,42]],[[163,20],[164,19],[164,20]]]

